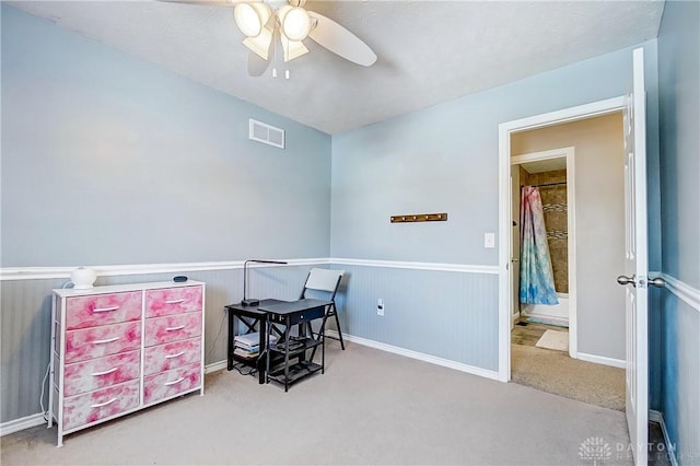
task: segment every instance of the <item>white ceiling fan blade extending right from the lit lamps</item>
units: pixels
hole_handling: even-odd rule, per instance
[[[363,67],[374,65],[376,54],[358,36],[320,13],[308,11],[308,15],[316,20],[316,26],[308,33],[311,38],[346,60]]]

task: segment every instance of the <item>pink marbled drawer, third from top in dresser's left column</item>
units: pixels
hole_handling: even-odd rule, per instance
[[[63,393],[73,396],[109,385],[139,378],[141,351],[129,351],[106,358],[66,364]]]

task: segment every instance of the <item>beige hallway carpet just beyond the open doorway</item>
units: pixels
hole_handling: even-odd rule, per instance
[[[625,411],[625,370],[571,359],[565,352],[511,345],[513,382]]]

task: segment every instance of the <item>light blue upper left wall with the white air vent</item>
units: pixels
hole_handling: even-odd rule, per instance
[[[2,115],[3,267],[328,256],[326,133],[5,4]]]

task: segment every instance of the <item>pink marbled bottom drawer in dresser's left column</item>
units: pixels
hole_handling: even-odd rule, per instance
[[[139,406],[139,381],[71,396],[63,401],[63,430],[79,428]]]

